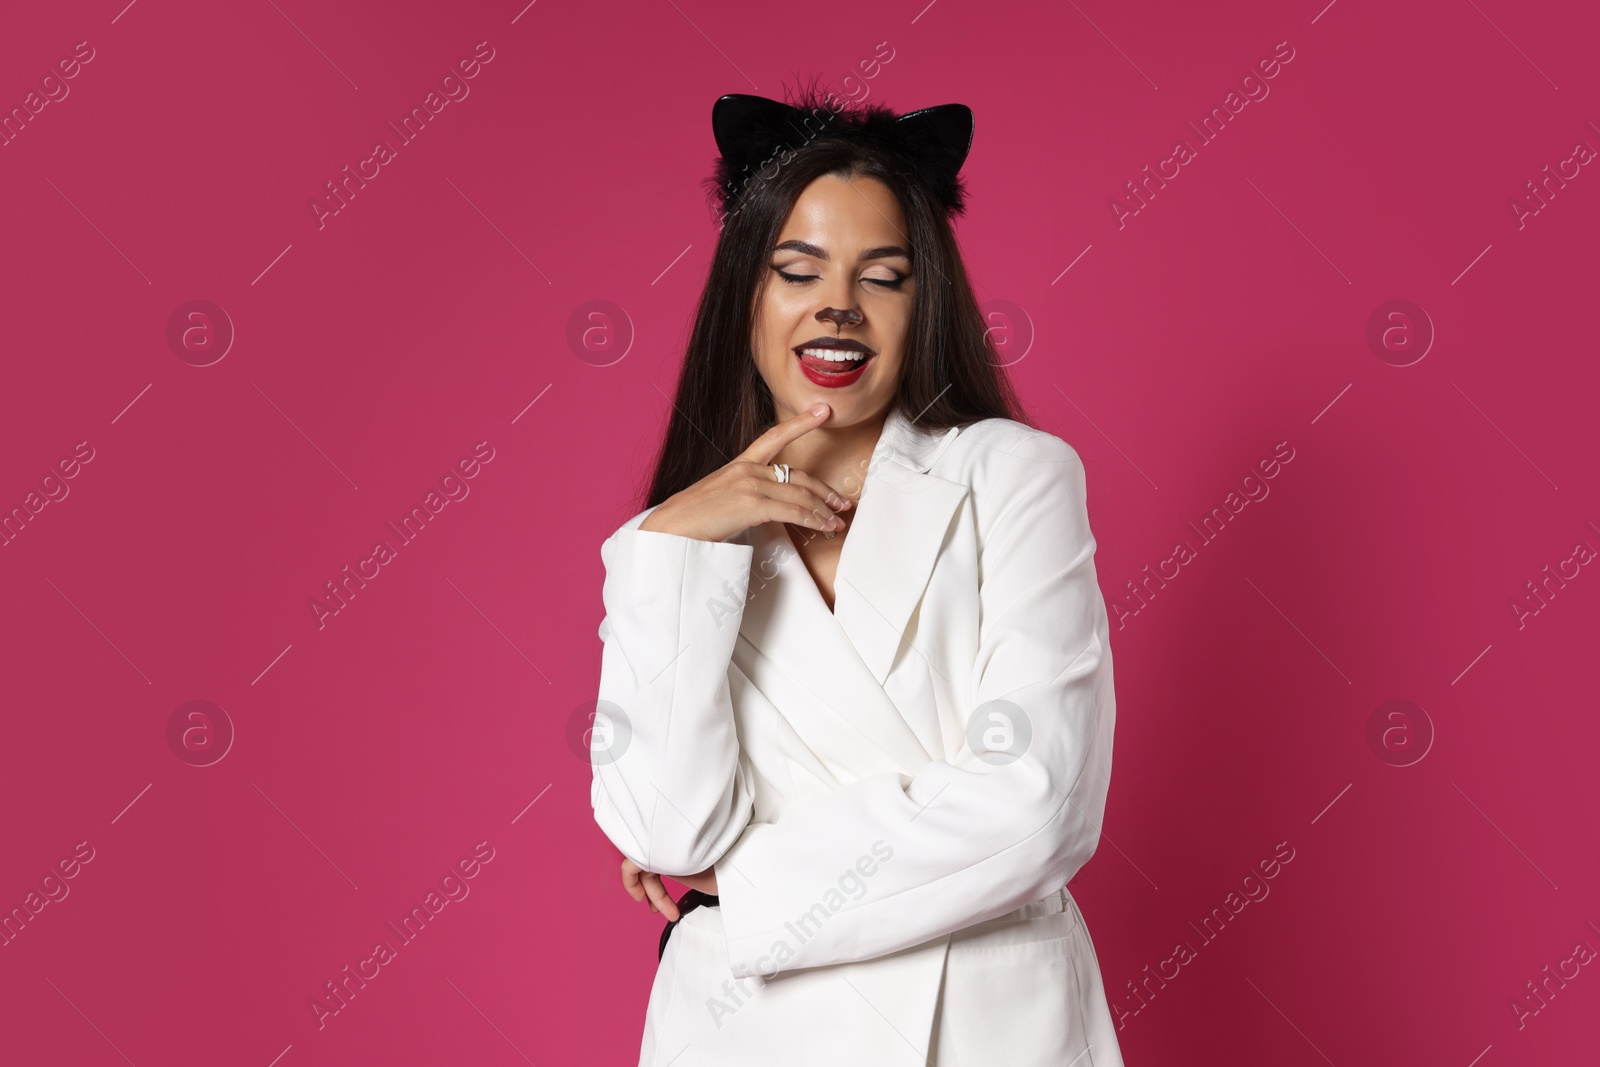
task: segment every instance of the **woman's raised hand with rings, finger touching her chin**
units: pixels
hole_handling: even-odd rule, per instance
[[[726,541],[766,522],[811,526],[830,536],[843,530],[845,520],[834,514],[851,507],[843,493],[803,470],[792,469],[787,483],[778,482],[771,470],[789,442],[827,421],[832,408],[821,408],[822,414],[802,411],[766,430],[728,466],[662,501],[638,528],[701,541]]]

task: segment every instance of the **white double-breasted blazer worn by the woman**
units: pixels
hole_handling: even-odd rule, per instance
[[[1066,889],[1115,721],[1083,462],[896,405],[856,509],[832,613],[782,523],[646,509],[600,549],[595,821],[720,899],[672,931],[640,1064],[1120,1067]]]

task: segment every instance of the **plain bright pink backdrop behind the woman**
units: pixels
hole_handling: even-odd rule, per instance
[[[1085,459],[1107,601],[1139,608],[1072,883],[1126,1062],[1594,1057],[1595,966],[1512,1011],[1600,947],[1600,576],[1510,606],[1600,545],[1600,174],[1509,206],[1600,146],[1587,5],[123,3],[0,34],[6,110],[93,48],[0,147],[0,506],[93,450],[0,547],[0,904],[93,849],[0,947],[6,1062],[635,1061],[662,920],[568,744],[598,547],[712,253],[712,101],[810,74],[976,112],[979,298]],[[318,229],[309,200],[478,42],[470,94]],[[1202,146],[1186,123],[1278,42]],[[197,299],[235,331],[208,366],[168,342]],[[619,312],[573,347],[589,301]],[[1366,339],[1387,301],[1437,334],[1406,366],[1403,333]],[[318,627],[478,442],[470,493]],[[189,701],[235,734],[210,766],[168,739]],[[1374,744],[1387,701],[1421,710]],[[470,894],[318,1029],[325,982],[480,841]],[[1270,894],[1202,939],[1278,843]]]

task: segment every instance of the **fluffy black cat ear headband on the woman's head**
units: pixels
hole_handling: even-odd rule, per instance
[[[830,98],[832,99],[832,98]],[[939,104],[896,115],[882,104],[858,109],[792,107],[765,96],[731,93],[710,109],[717,160],[717,192],[723,214],[739,208],[739,195],[755,178],[773,178],[778,166],[822,134],[886,146],[910,162],[950,214],[966,208],[958,171],[973,146],[973,109]]]

